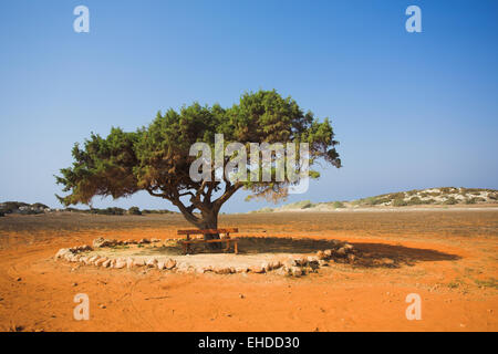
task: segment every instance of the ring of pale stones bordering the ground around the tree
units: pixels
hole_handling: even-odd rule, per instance
[[[280,260],[273,260],[269,262],[263,262],[261,266],[251,266],[249,268],[243,267],[203,267],[195,268],[194,266],[188,266],[187,263],[178,263],[176,260],[169,258],[167,261],[159,261],[156,257],[149,257],[147,259],[134,259],[134,258],[108,258],[101,256],[84,256],[82,252],[93,251],[94,249],[104,247],[114,247],[121,244],[144,244],[160,242],[159,239],[142,239],[139,241],[126,240],[116,241],[98,238],[93,241],[93,247],[84,244],[76,246],[72,248],[60,249],[54,259],[55,260],[66,260],[68,262],[75,262],[85,266],[95,266],[101,268],[110,269],[138,269],[138,268],[155,268],[158,270],[168,270],[175,272],[184,273],[207,273],[212,272],[216,274],[235,274],[235,273],[269,273],[274,271],[274,273],[280,275],[292,275],[301,277],[308,273],[314,273],[320,269],[320,267],[328,267],[329,261],[336,261],[341,259],[343,263],[354,263],[355,261],[355,249],[352,244],[336,241],[336,249],[320,250],[315,256],[289,256],[283,262]]]

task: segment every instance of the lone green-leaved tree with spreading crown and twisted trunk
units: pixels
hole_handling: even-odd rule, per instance
[[[189,169],[198,158],[190,156],[195,143],[206,143],[215,149],[215,134],[224,134],[225,143],[308,143],[309,166],[319,159],[341,167],[335,150],[333,129],[328,118],[320,122],[311,112],[304,113],[291,98],[276,91],[246,93],[239,104],[230,108],[220,105],[201,106],[194,103],[179,112],[157,113],[154,122],[126,133],[113,127],[107,137],[91,134],[83,148],[76,143],[72,167],[55,176],[63,185],[65,205],[90,204],[94,196],[114,199],[146,190],[154,197],[169,200],[191,225],[199,229],[216,229],[221,206],[239,189],[251,191],[251,197],[284,199],[288,188],[295,184],[283,181],[232,181],[222,174],[211,180],[195,181]],[[227,164],[234,156],[224,156]],[[297,164],[298,165],[298,164]],[[225,165],[224,165],[225,166]],[[299,168],[299,166],[294,166]],[[276,170],[272,170],[274,176]],[[318,178],[310,170],[311,178]],[[206,236],[218,238],[217,235]]]

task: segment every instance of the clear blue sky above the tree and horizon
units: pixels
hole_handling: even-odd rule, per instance
[[[73,9],[90,9],[75,33]],[[422,33],[405,9],[422,9]],[[330,117],[344,167],[289,201],[498,188],[498,2],[0,2],[0,200],[60,207],[53,175],[90,132],[276,88]],[[221,211],[267,206],[238,192]],[[172,208],[137,194],[94,206]]]

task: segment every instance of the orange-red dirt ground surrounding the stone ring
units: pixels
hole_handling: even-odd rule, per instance
[[[0,218],[1,331],[497,331],[498,209],[224,215],[241,236],[349,241],[396,267],[331,264],[302,278],[77,267],[97,237],[176,238],[181,216]],[[73,319],[75,294],[90,320]],[[407,294],[422,320],[405,315]]]

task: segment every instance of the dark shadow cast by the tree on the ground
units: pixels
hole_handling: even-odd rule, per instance
[[[354,267],[366,268],[398,268],[402,264],[413,266],[416,262],[426,261],[454,261],[461,257],[449,254],[430,249],[409,248],[405,246],[394,246],[372,242],[350,242],[353,249],[349,254],[336,252],[347,242],[332,239],[311,238],[281,238],[281,237],[239,237],[239,253],[289,253],[289,254],[313,254],[319,250],[332,250],[330,258],[336,263],[351,263]],[[158,254],[181,254],[180,241],[175,240],[164,247],[154,249]],[[230,249],[232,252],[232,247]],[[191,248],[191,254],[222,253],[222,251],[207,250],[204,244],[196,244]]]

